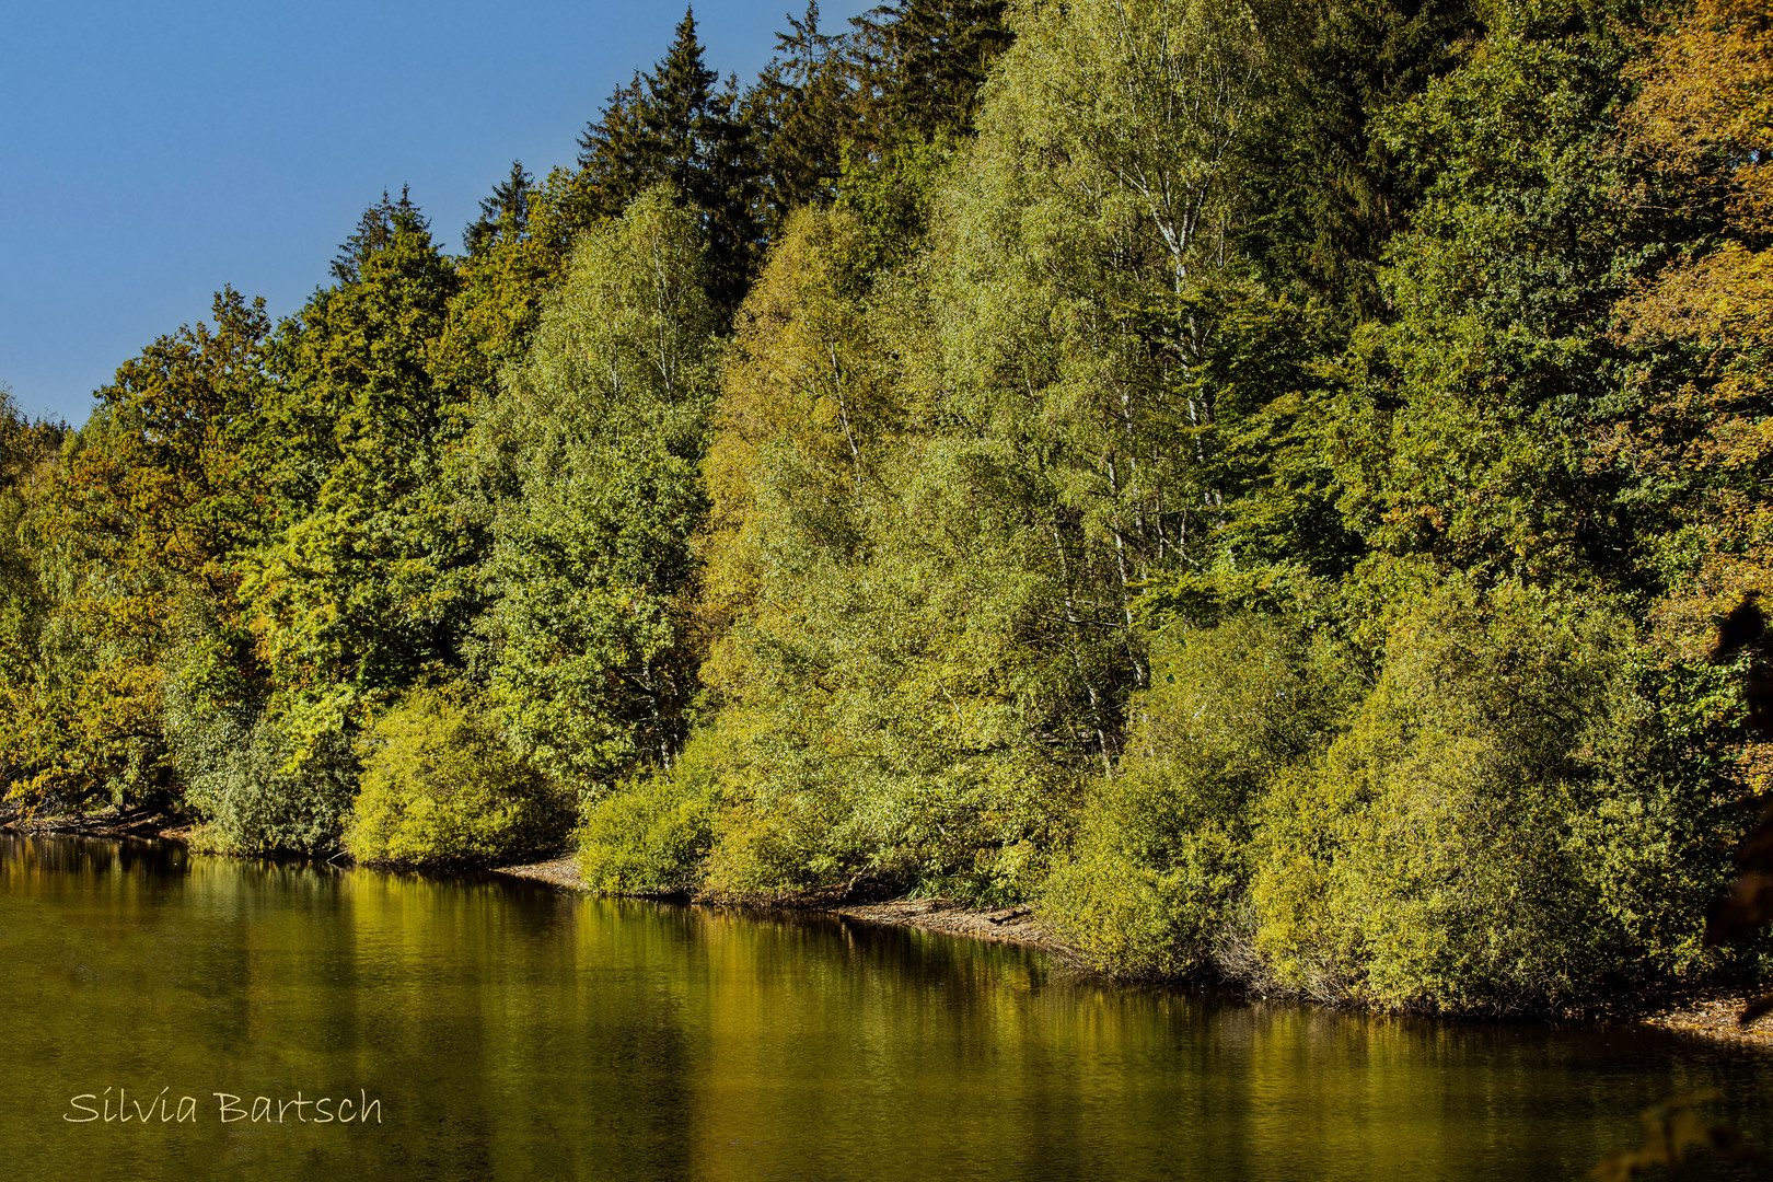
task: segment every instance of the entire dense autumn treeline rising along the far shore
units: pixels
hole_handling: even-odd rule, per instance
[[[461,255],[385,197],[9,408],[9,797],[1379,1007],[1752,976],[1768,25],[897,0],[739,89],[686,16]]]

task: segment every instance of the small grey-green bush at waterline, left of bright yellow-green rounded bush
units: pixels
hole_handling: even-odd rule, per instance
[[[193,776],[184,799],[202,819],[191,844],[223,854],[339,849],[356,794],[358,762],[342,734],[298,750],[277,721],[261,719],[250,741]]]

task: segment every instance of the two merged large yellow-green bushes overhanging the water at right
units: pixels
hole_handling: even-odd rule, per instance
[[[1729,673],[1519,587],[1388,599],[1376,661],[1271,618],[1160,636],[1048,914],[1115,973],[1381,1008],[1557,1010],[1718,968],[1729,797],[1683,735],[1734,709]]]

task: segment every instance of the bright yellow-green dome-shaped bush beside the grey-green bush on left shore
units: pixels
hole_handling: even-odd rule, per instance
[[[362,744],[344,845],[410,867],[509,861],[564,842],[573,799],[518,760],[472,705],[410,693]]]

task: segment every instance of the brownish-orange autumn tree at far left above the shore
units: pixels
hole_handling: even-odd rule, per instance
[[[165,799],[165,684],[186,626],[206,620],[248,661],[234,555],[268,525],[243,441],[269,388],[269,323],[262,299],[232,289],[213,310],[213,328],[181,328],[119,367],[28,516],[48,595],[7,684],[25,796]]]

